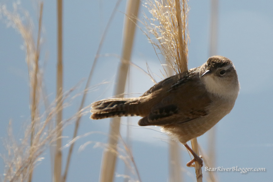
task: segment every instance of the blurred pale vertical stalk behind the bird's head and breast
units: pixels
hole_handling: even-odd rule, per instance
[[[210,56],[217,54],[217,29],[218,29],[218,0],[211,0],[211,25],[210,25]],[[208,131],[208,159],[211,167],[215,167],[215,126]],[[209,175],[210,181],[215,181],[214,175]]]

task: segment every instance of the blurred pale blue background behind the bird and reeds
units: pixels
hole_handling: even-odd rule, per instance
[[[110,17],[116,1],[65,1],[63,15],[63,62],[64,89],[68,90],[80,83],[76,93],[84,88],[102,32]],[[10,1],[1,0],[12,11]],[[189,1],[189,68],[203,64],[209,57],[209,23],[210,1]],[[103,44],[102,54],[120,55],[122,49],[123,19],[126,1],[121,1],[119,12],[111,22],[110,29]],[[36,1],[21,1],[23,9],[29,11],[37,28]],[[241,84],[240,94],[234,109],[216,125],[216,166],[215,167],[265,167],[266,172],[216,172],[220,181],[269,181],[273,179],[273,1],[219,1],[219,32],[217,54],[231,59],[237,69]],[[141,11],[144,7],[141,6]],[[141,14],[140,14],[141,15]],[[44,83],[49,99],[55,97],[56,88],[56,2],[44,2],[43,12],[44,43],[41,61],[45,61]],[[2,116],[0,137],[7,136],[8,121],[12,119],[16,136],[24,131],[29,121],[29,86],[28,72],[25,63],[25,52],[21,49],[22,38],[12,27],[7,28],[3,20],[0,24],[0,115]],[[37,32],[37,29],[36,29]],[[132,62],[150,69],[160,75],[160,62],[148,43],[147,38],[137,29],[133,46]],[[119,59],[113,56],[99,58],[91,85],[103,81],[109,82],[97,87],[90,93],[86,105],[93,101],[113,96],[116,70]],[[130,88],[128,93],[144,93],[153,86],[153,82],[142,71],[130,69]],[[161,76],[162,77],[162,76]],[[83,80],[84,79],[84,80]],[[157,78],[160,81],[160,78]],[[139,96],[140,94],[135,94]],[[64,111],[64,118],[75,113],[80,103],[76,98],[72,105]],[[131,147],[142,181],[168,180],[168,145],[167,136],[156,130],[158,127],[137,126],[140,118],[133,117],[130,121]],[[89,114],[82,118],[79,134],[90,131],[108,133],[109,119],[89,119]],[[126,118],[123,119],[121,130],[126,140]],[[74,124],[63,132],[68,136],[63,143],[69,142]],[[88,145],[78,152],[80,145],[87,141],[107,142],[107,136],[92,134],[81,138],[75,145],[75,152],[67,181],[98,181],[103,148]],[[207,150],[207,134],[198,138],[201,146]],[[0,153],[4,148],[0,145]],[[68,149],[63,150],[66,155]],[[194,181],[194,169],[187,168],[190,157],[181,146],[182,161],[186,181]],[[46,151],[45,159],[34,171],[33,181],[50,181],[50,158]],[[0,169],[3,163],[0,160]],[[124,174],[124,164],[118,161],[117,174]],[[203,170],[203,174],[206,172]],[[116,181],[123,181],[116,177]]]

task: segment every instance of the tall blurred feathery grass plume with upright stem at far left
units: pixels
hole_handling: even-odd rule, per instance
[[[29,156],[35,156],[35,138],[34,136],[39,131],[36,128],[36,123],[40,123],[39,117],[39,99],[41,95],[42,88],[42,72],[39,68],[39,57],[40,57],[40,49],[41,49],[41,26],[42,26],[42,10],[43,3],[39,4],[39,29],[37,39],[35,41],[34,33],[33,33],[33,23],[29,17],[28,12],[23,12],[26,21],[26,24],[22,21],[21,15],[18,11],[18,4],[13,3],[13,12],[7,10],[5,5],[0,7],[0,13],[6,17],[7,25],[12,25],[15,29],[17,29],[22,38],[24,40],[24,48],[26,52],[26,63],[28,66],[29,73],[29,103],[30,103],[30,113],[31,113],[31,127],[30,127],[30,148],[29,148]],[[10,134],[10,133],[9,133]],[[35,160],[34,158],[29,158],[29,166],[28,172],[25,174],[29,174],[29,182],[32,181],[32,171]],[[25,167],[21,168],[26,170]],[[8,170],[10,171],[10,170]],[[15,173],[16,176],[17,173]]]

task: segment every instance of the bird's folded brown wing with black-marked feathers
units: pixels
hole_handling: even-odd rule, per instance
[[[152,107],[148,116],[139,120],[139,125],[182,124],[206,116],[211,99],[199,80],[199,76],[189,70],[187,76],[169,86],[167,96]]]

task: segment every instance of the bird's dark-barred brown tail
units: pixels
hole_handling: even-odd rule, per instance
[[[93,120],[99,120],[116,116],[138,116],[138,98],[104,99],[92,103],[91,116]]]

